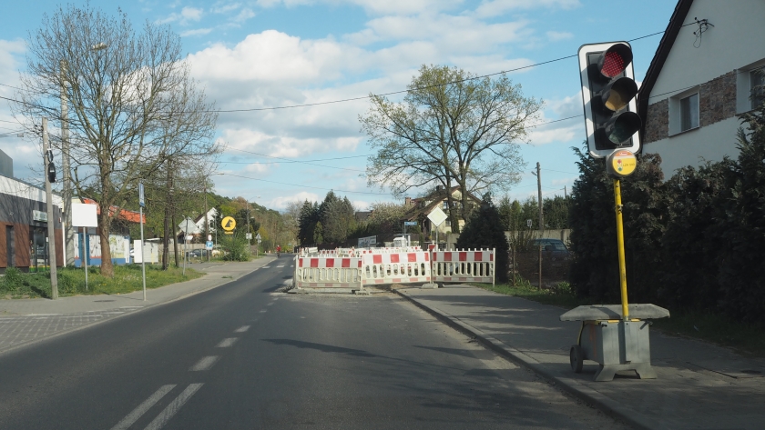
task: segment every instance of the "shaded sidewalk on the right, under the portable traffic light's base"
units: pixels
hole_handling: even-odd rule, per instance
[[[454,328],[525,365],[570,393],[638,428],[765,428],[765,360],[685,338],[651,333],[657,379],[620,375],[594,382],[595,362],[581,374],[569,365],[579,323],[565,309],[468,285],[395,290]]]

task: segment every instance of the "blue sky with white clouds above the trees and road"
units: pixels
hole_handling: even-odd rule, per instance
[[[85,2],[74,2],[85,5]],[[4,5],[0,16],[0,95],[12,96],[24,72],[25,39],[44,11],[60,3]],[[406,88],[420,65],[455,65],[494,74],[576,55],[584,44],[631,40],[665,30],[671,0],[255,0],[91,1],[134,25],[171,25],[182,37],[194,77],[221,109],[331,102]],[[621,17],[614,19],[614,17]],[[691,31],[691,30],[688,30]],[[632,43],[641,81],[661,35]],[[545,196],[570,191],[576,175],[572,146],[585,139],[576,58],[509,75],[525,95],[545,101],[542,122],[522,144],[522,181],[497,196],[536,195],[535,164]],[[333,189],[363,210],[393,201],[360,177],[371,155],[358,116],[366,100],[221,114],[217,138],[226,145],[214,181],[219,195],[242,196],[270,208],[321,201]],[[0,102],[0,132],[15,130]],[[0,133],[0,134],[2,134]],[[40,143],[0,137],[15,176],[29,178]],[[418,196],[413,190],[410,196]],[[403,199],[402,199],[403,200]]]

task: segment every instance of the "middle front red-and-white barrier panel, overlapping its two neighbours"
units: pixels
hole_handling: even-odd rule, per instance
[[[364,285],[429,283],[430,269],[430,254],[425,251],[362,255]]]

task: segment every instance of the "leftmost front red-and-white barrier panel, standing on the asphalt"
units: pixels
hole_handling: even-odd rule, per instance
[[[362,289],[362,260],[351,257],[297,257],[294,286]]]

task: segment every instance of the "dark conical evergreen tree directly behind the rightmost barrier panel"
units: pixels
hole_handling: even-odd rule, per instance
[[[473,212],[470,221],[457,239],[457,248],[495,248],[495,276],[498,282],[507,282],[509,246],[499,218],[499,211],[489,194],[484,195],[481,206]]]

